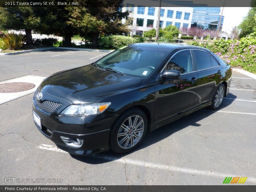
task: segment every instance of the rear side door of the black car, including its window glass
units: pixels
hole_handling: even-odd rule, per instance
[[[211,101],[222,76],[219,63],[204,50],[193,50],[198,73],[195,106]]]

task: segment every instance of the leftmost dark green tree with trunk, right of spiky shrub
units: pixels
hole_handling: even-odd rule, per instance
[[[37,30],[40,22],[32,7],[0,7],[0,27],[6,30],[25,29],[27,45],[33,44],[31,31]]]

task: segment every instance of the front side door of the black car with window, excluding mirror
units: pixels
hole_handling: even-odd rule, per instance
[[[164,70],[180,71],[181,76],[179,79],[160,76],[156,80],[155,124],[193,108],[196,97],[197,72],[190,50],[175,53]]]

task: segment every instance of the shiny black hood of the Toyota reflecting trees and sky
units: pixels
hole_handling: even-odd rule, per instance
[[[53,74],[40,88],[72,103],[94,103],[105,95],[137,87],[141,81],[87,65]]]

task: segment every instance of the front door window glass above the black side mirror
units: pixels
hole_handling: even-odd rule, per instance
[[[184,50],[176,53],[168,62],[165,70],[177,70],[180,73],[188,73],[193,71],[193,62],[190,50]]]

